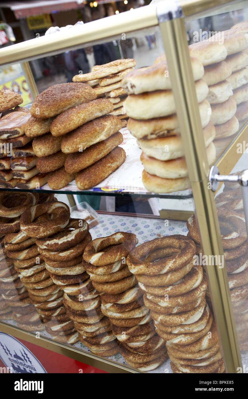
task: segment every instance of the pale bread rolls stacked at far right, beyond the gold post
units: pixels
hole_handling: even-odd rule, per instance
[[[238,131],[238,120],[248,116],[248,54],[245,52],[248,41],[235,30],[219,32],[208,41],[215,43],[216,55],[220,59],[218,63],[205,66],[203,77],[209,85],[207,99],[211,104],[211,120],[215,124],[215,145],[219,155]]]

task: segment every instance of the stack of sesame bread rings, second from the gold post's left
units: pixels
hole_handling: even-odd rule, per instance
[[[102,313],[126,362],[141,371],[155,369],[167,358],[165,342],[155,332],[142,291],[126,264],[135,248],[135,234],[117,232],[87,245],[83,265],[100,292]],[[87,346],[87,337],[82,341]]]

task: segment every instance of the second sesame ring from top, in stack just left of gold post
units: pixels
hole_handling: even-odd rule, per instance
[[[191,261],[191,263],[189,263],[188,265],[181,267],[181,269],[171,271],[169,273],[158,274],[157,276],[135,275],[135,277],[139,282],[145,285],[149,284],[150,286],[154,287],[160,287],[161,285],[166,286],[174,284],[178,280],[181,280],[184,276],[187,275],[187,273],[189,273],[192,267],[193,261]]]

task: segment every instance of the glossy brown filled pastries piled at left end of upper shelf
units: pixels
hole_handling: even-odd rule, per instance
[[[0,187],[4,188],[14,188],[19,178],[28,179],[38,173],[31,138],[25,135],[31,114],[18,106],[22,102],[20,94],[0,90]]]

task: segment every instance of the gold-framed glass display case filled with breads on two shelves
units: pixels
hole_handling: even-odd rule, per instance
[[[155,1],[0,50],[34,97],[22,134],[0,118],[2,332],[109,372],[240,372],[245,207],[209,170],[248,168],[247,20],[246,1]],[[109,43],[111,65],[85,66]],[[34,81],[45,57],[61,81]]]

